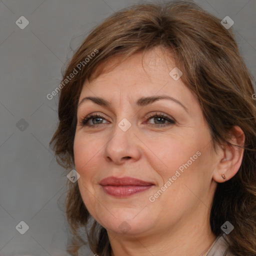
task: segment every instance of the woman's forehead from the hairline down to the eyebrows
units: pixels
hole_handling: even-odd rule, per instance
[[[182,80],[170,76],[175,61],[161,48],[133,54],[123,61],[120,56],[113,57],[102,67],[105,69],[96,78],[85,80],[79,103],[89,96],[103,98],[108,105],[126,107],[128,102],[136,105],[141,97],[166,95],[183,102],[188,109],[196,104]]]

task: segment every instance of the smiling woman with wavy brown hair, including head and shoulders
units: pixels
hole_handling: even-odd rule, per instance
[[[231,28],[191,1],[95,27],[63,75],[50,141],[79,174],[69,253],[86,231],[100,256],[256,255],[251,80]]]

